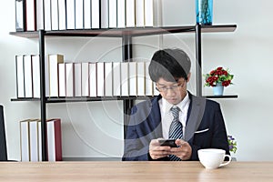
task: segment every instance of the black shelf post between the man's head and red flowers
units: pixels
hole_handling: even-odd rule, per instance
[[[196,25],[196,70],[197,70],[197,96],[202,96],[202,46],[201,25]]]

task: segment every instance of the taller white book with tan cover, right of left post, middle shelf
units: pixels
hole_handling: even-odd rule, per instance
[[[58,64],[64,63],[63,55],[48,55],[49,96],[58,96]]]

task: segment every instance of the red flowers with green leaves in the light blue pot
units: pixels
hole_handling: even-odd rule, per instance
[[[222,83],[222,86],[229,86],[232,84],[231,80],[233,79],[233,75],[229,73],[229,70],[223,67],[217,67],[204,76],[205,86],[216,86],[217,83]]]

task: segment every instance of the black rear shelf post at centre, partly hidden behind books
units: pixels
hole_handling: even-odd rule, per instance
[[[133,45],[131,35],[122,35],[122,60],[125,62],[132,61],[133,58]],[[125,99],[123,101],[123,112],[124,112],[124,137],[126,137],[126,126],[129,123],[130,108],[134,106],[134,100]]]

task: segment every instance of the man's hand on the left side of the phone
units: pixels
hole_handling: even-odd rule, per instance
[[[153,159],[167,157],[170,154],[171,147],[160,146],[158,139],[153,139],[149,145],[149,154]]]

